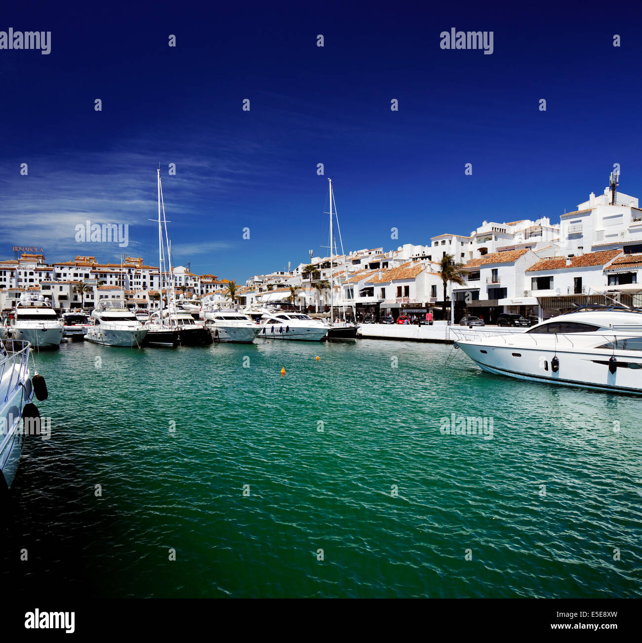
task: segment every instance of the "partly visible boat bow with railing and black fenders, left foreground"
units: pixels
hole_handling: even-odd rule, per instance
[[[8,492],[20,462],[24,438],[31,430],[39,431],[38,409],[31,403],[35,393],[46,399],[42,376],[31,380],[28,341],[0,341],[0,498]],[[23,424],[24,421],[25,424]]]

